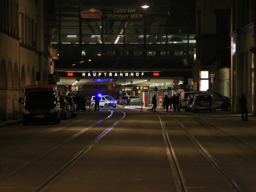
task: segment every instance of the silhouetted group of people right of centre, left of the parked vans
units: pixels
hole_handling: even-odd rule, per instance
[[[180,111],[180,107],[179,107],[179,101],[180,101],[180,93],[177,94],[177,96],[175,94],[173,94],[173,96],[171,98],[168,97],[168,95],[164,95],[164,101],[163,101],[163,108],[166,109],[166,112],[169,111],[169,106],[170,109],[173,109],[173,112],[176,111]],[[151,111],[154,110],[154,112],[156,112],[156,94],[154,94],[154,96],[152,97],[152,103],[153,103],[153,107],[151,108]]]

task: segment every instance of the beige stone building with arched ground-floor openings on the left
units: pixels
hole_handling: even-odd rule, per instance
[[[0,121],[21,118],[18,102],[28,84],[47,83],[54,69],[47,54],[44,22],[46,1],[2,0],[0,2]],[[50,51],[51,52],[51,48]],[[36,81],[36,71],[40,80]]]

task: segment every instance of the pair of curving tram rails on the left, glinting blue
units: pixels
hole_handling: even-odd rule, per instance
[[[110,111],[110,110],[109,110]],[[100,121],[94,123],[93,125],[91,125],[90,127],[86,127],[85,129],[77,132],[76,134],[73,134],[71,137],[69,137],[68,139],[64,140],[63,142],[61,142],[60,144],[56,145],[55,147],[45,151],[44,153],[40,154],[39,156],[37,156],[36,158],[28,161],[27,163],[23,164],[22,166],[14,169],[12,172],[9,172],[7,174],[5,174],[4,176],[2,176],[0,178],[0,183],[4,182],[5,180],[7,180],[8,178],[11,178],[12,176],[14,176],[15,174],[19,174],[19,172],[21,172],[22,170],[29,168],[30,166],[33,166],[33,164],[35,164],[37,161],[39,161],[40,159],[43,159],[45,157],[47,157],[47,155],[51,154],[53,151],[56,151],[58,148],[63,147],[65,144],[68,144],[70,141],[75,140],[76,138],[78,138],[79,136],[83,135],[83,133],[91,130],[93,127],[95,127],[96,125],[106,121],[107,119],[110,119],[110,117],[112,117],[114,114],[113,111],[110,111],[110,115],[108,115],[106,118],[101,119]],[[65,166],[63,166],[57,173],[55,173],[53,176],[50,176],[49,180],[47,180],[46,182],[44,182],[43,185],[41,185],[39,188],[37,188],[35,191],[41,191],[43,190],[43,188],[45,188],[46,185],[49,184],[49,182],[51,182],[53,180],[53,178],[57,177],[59,174],[61,174],[61,172],[65,169],[67,169],[70,165],[74,164],[79,157],[83,156],[88,150],[90,150],[97,142],[100,141],[100,139],[102,137],[104,137],[111,129],[112,127],[117,124],[119,121],[121,121],[124,116],[125,113],[122,112],[122,117],[119,118],[117,120],[114,120],[114,123],[112,123],[110,126],[108,126],[107,128],[105,128],[105,130],[103,132],[101,132],[94,140],[92,140],[90,142],[89,145],[86,145],[86,147],[83,148],[83,150],[80,150],[73,158],[72,160],[69,160],[68,164],[66,164]]]

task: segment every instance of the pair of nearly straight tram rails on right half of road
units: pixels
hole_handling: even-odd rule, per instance
[[[172,116],[169,113],[164,113],[167,115]],[[187,191],[187,187],[185,185],[186,179],[184,178],[182,174],[182,170],[179,165],[179,160],[177,156],[175,155],[175,151],[172,147],[172,142],[168,136],[168,131],[167,128],[165,127],[164,121],[162,120],[161,116],[157,114],[159,117],[159,121],[162,127],[163,135],[164,135],[164,140],[166,143],[167,151],[168,151],[168,156],[170,158],[170,163],[173,168],[173,174],[175,175],[174,178],[176,180],[178,189],[180,192]],[[215,168],[222,174],[222,176],[228,181],[228,183],[235,189],[237,192],[243,192],[244,190],[237,184],[237,182],[230,176],[230,174],[220,165],[220,163],[207,151],[207,149],[196,139],[196,137],[191,134],[188,129],[174,116],[172,118],[175,119],[175,121],[180,125],[182,130],[186,132],[187,136],[190,138],[190,140],[193,141],[193,143],[200,149],[201,153],[204,154],[204,156],[211,162],[212,165],[215,166]],[[200,118],[199,118],[200,119]],[[202,120],[202,119],[200,119]],[[207,123],[207,122],[206,122]],[[209,124],[210,126],[211,124]]]

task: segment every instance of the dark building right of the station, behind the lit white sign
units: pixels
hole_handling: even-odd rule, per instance
[[[209,89],[213,88],[230,97],[227,90],[229,86],[224,86],[230,84],[229,73],[224,70],[231,65],[230,4],[230,0],[196,1],[196,60],[193,82],[197,83],[197,91],[200,90],[200,71],[208,71],[216,74],[216,83],[209,83]]]

